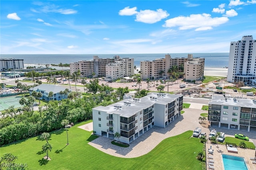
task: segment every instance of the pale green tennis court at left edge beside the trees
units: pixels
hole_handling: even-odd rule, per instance
[[[0,111],[8,109],[10,106],[14,106],[14,108],[22,107],[19,103],[21,98],[22,96],[0,98]]]

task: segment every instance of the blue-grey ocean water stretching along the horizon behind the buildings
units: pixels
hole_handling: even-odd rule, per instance
[[[186,53],[174,53],[171,54],[172,58],[187,58]],[[98,55],[99,58],[113,58],[115,55],[119,55],[120,58],[134,58],[134,65],[140,67],[140,61],[152,61],[158,58],[164,58],[166,54],[66,54],[66,55],[0,55],[0,58],[14,58],[14,59],[24,59],[24,64],[69,64],[72,62],[82,61],[82,60],[93,60],[93,56]],[[219,67],[223,68],[228,66],[228,56],[229,53],[193,53],[193,57],[203,57],[205,58],[205,67]]]

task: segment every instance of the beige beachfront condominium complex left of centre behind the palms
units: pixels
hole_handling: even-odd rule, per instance
[[[133,69],[134,59],[130,59],[130,58],[122,59],[118,55],[114,56],[112,59],[110,58],[101,59],[98,56],[93,56],[93,61],[78,61],[76,63],[70,63],[70,74],[80,70],[82,77],[90,77],[92,76],[92,72],[96,74],[95,75],[96,77],[106,76],[106,69],[108,70],[110,69],[108,68],[108,64],[110,64],[110,67],[111,67],[115,63],[117,63],[117,65],[119,63],[122,64],[122,68],[123,68],[122,76],[121,75],[117,76],[117,74],[115,74],[115,77],[131,76],[134,74],[134,69]],[[119,72],[120,70],[118,69],[118,73]],[[114,80],[114,78],[112,78],[112,80]]]

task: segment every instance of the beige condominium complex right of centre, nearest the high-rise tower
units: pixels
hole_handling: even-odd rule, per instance
[[[185,64],[186,70],[184,67]],[[179,69],[182,65],[184,67],[184,70]],[[193,58],[193,56],[190,54],[188,55],[188,58],[171,58],[171,56],[167,54],[165,55],[165,58],[162,59],[155,59],[153,61],[140,61],[140,71],[142,74],[142,79],[167,78],[168,76],[170,76],[168,70],[169,68],[172,68],[172,66],[177,66],[179,72],[186,73],[188,80],[198,80],[204,75],[204,58]],[[192,70],[195,70],[193,71],[194,74],[192,70],[190,70],[190,68]],[[189,72],[188,75],[187,72]]]

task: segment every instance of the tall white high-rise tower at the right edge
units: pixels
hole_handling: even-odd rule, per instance
[[[243,36],[242,40],[230,43],[228,82],[256,83],[256,40],[252,38]]]

